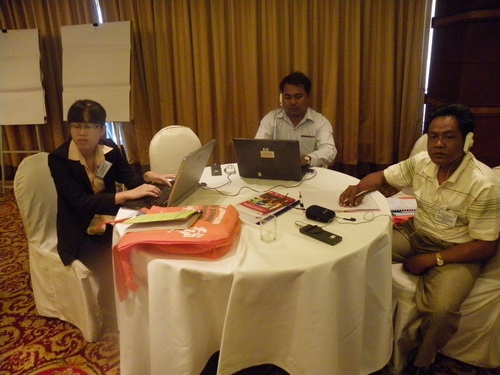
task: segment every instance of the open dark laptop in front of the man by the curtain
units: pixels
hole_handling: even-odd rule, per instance
[[[300,181],[308,166],[300,165],[299,141],[234,138],[241,177]]]

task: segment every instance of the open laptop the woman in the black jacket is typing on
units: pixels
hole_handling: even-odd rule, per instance
[[[204,146],[184,156],[172,187],[161,186],[162,193],[159,197],[132,199],[123,202],[122,206],[135,210],[143,207],[150,208],[151,206],[178,206],[201,186],[200,178],[203,174],[203,170],[207,166],[214,144],[215,139],[212,139]]]

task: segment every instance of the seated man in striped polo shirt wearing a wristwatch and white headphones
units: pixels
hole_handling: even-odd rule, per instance
[[[450,104],[426,120],[427,152],[364,177],[340,196],[355,206],[389,184],[411,187],[415,217],[395,228],[393,260],[420,275],[415,301],[422,316],[414,367],[426,373],[437,351],[452,337],[460,306],[481,268],[496,252],[500,231],[500,183],[469,151],[475,121],[469,109]]]

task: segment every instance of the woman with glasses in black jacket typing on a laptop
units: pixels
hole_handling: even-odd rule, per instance
[[[170,184],[175,176],[135,175],[118,146],[104,138],[106,111],[99,103],[78,100],[67,122],[70,138],[49,155],[58,195],[57,249],[64,265],[79,259],[96,274],[99,302],[113,312],[112,227],[99,223],[112,219],[126,200],[157,197],[160,189],[149,183]],[[117,191],[117,183],[127,189]]]

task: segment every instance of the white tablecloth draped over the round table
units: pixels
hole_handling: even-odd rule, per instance
[[[224,169],[224,166],[223,166]],[[302,189],[344,189],[356,179],[328,169],[300,186],[292,181],[241,179],[219,190],[198,190],[183,204],[234,204],[273,190],[298,198]],[[308,177],[306,177],[308,178]],[[207,168],[208,187],[228,182]],[[284,188],[275,186],[295,186]],[[205,260],[132,251],[140,285],[117,302],[121,374],[199,374],[220,350],[219,374],[272,363],[289,373],[369,374],[391,355],[391,220],[381,211],[363,224],[333,222],[343,241],[329,246],[299,233],[292,209],[278,217],[277,240],[264,243],[259,227],[244,224],[234,248]],[[126,210],[120,214],[127,215]],[[365,213],[338,214],[365,221]],[[369,216],[369,215],[368,215]],[[315,223],[317,224],[317,223]],[[125,226],[115,227],[115,242]]]

